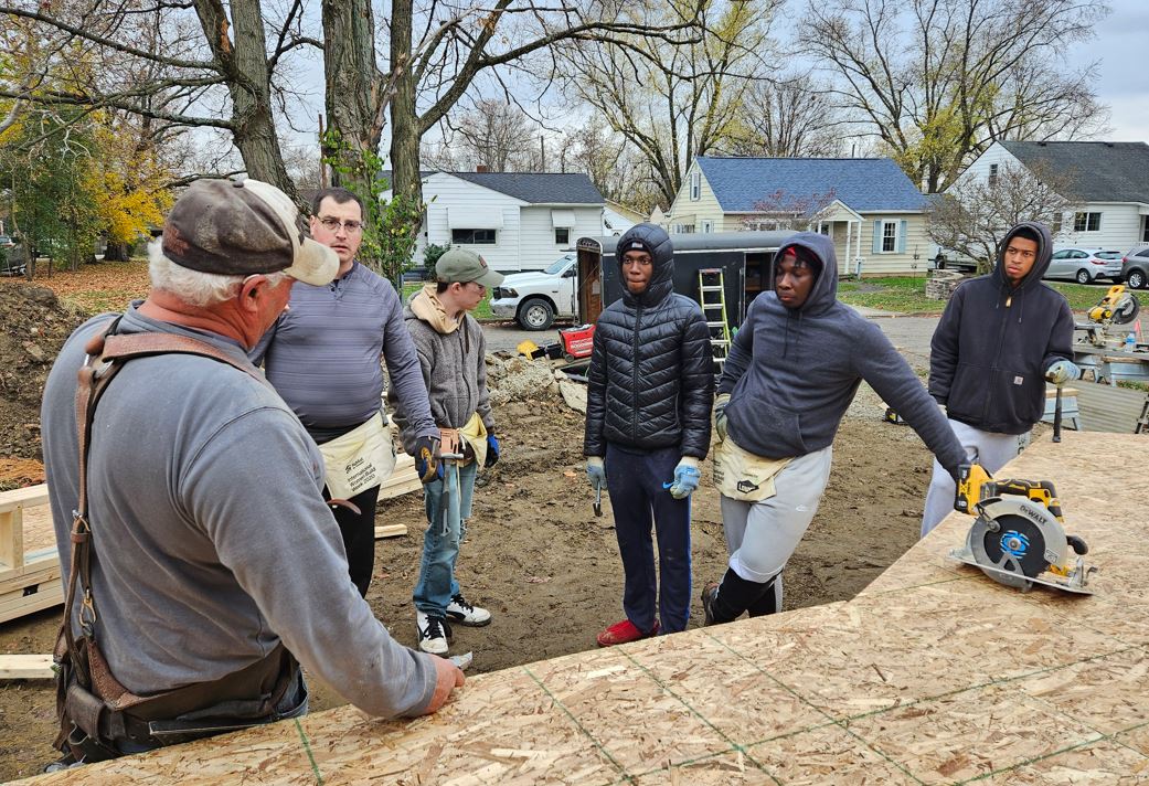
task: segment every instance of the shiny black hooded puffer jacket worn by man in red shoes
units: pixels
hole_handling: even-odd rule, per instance
[[[584,453],[603,456],[607,442],[653,450],[676,445],[704,458],[710,448],[714,361],[702,307],[674,294],[674,249],[654,224],[618,240],[642,244],[653,260],[645,292],[623,298],[599,316],[591,355]]]

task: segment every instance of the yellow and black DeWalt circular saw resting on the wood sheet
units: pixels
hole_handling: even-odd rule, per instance
[[[1044,584],[1092,595],[1085,564],[1089,550],[1065,534],[1062,507],[1049,480],[994,480],[979,464],[961,468],[954,508],[977,515],[963,548],[950,558],[980,568],[989,578],[1021,592]],[[1070,554],[1072,552],[1072,554]]]

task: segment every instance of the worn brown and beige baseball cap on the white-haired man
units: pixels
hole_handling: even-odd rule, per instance
[[[226,276],[283,270],[322,286],[339,271],[336,253],[316,242],[284,192],[261,180],[196,180],[163,226],[163,253],[183,268]]]

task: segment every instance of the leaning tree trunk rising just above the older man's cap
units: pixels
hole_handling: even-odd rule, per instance
[[[208,46],[228,77],[236,147],[250,177],[278,186],[295,199],[295,185],[287,176],[271,116],[271,80],[260,0],[231,0],[230,7],[229,25],[221,0],[195,0]],[[234,45],[228,34],[229,26],[236,34]]]

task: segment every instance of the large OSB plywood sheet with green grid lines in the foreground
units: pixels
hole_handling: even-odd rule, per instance
[[[949,562],[955,514],[849,602],[473,677],[430,718],[345,707],[45,783],[1149,783],[1149,484],[1115,458],[1149,465],[1149,439],[1069,432],[998,472],[1057,484],[1094,596]]]

